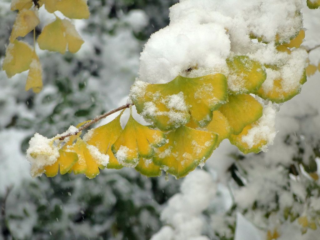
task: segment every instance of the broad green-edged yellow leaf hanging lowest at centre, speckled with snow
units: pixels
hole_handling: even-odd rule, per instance
[[[186,176],[204,163],[218,140],[218,135],[213,132],[186,126],[166,133],[166,137],[169,142],[156,150],[153,162],[176,178]]]

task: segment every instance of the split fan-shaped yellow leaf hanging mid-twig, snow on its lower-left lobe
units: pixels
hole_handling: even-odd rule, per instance
[[[130,114],[124,130],[111,149],[120,164],[135,167],[139,162],[139,156],[151,158],[154,155],[153,147],[159,148],[165,142],[163,132],[141,125]]]

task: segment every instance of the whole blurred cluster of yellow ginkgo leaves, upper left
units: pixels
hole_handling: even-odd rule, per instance
[[[66,52],[67,46],[69,52],[75,53],[84,43],[73,23],[56,15],[56,19],[44,26],[36,40],[35,28],[40,23],[38,9],[43,5],[48,12],[54,14],[55,11],[60,11],[69,19],[87,19],[90,16],[86,0],[12,0],[11,10],[17,10],[18,13],[6,49],[3,70],[8,77],[29,70],[25,89],[32,89],[36,93],[41,91],[43,85],[42,68],[35,50],[36,41],[40,49],[62,54]],[[32,30],[33,47],[19,40]]]

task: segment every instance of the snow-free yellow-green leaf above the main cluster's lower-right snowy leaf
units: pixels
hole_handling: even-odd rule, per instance
[[[249,94],[230,95],[219,111],[228,119],[232,134],[239,134],[262,116],[261,104]]]

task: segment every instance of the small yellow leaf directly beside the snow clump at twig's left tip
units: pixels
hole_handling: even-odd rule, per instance
[[[66,174],[78,161],[78,155],[75,152],[66,152],[60,149],[59,154],[60,156],[54,164],[44,168],[44,173],[47,177],[54,177],[57,175],[59,168],[61,175]]]

